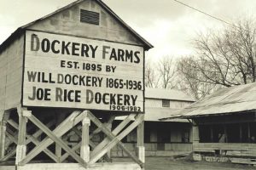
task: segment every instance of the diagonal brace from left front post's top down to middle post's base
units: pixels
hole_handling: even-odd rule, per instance
[[[58,136],[55,135],[55,133],[52,133],[51,130],[49,130],[48,127],[44,125],[44,123],[40,122],[35,116],[27,116],[27,118],[33,122],[37,127],[42,129],[44,133],[46,133],[50,139],[54,140],[55,143],[59,144],[63,150],[66,150],[67,153],[73,157],[76,161],[80,163],[81,166],[87,167],[87,163],[80,157],[78,156],[73,150],[71,150],[65,142],[63,142],[61,139],[59,139]]]

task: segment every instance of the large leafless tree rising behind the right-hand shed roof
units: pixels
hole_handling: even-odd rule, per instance
[[[255,32],[251,20],[242,20],[224,31],[198,34],[196,54],[178,62],[178,71],[196,99],[217,87],[255,82]]]

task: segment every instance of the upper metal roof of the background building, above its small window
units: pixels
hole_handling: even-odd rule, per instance
[[[163,88],[146,88],[145,98],[172,99],[172,100],[191,101],[191,102],[195,101],[195,99],[193,99],[188,94],[185,94],[181,90],[163,89]]]

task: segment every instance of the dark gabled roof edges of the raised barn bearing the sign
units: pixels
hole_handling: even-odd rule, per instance
[[[78,1],[75,1],[73,3],[70,3],[68,4],[67,6],[63,7],[63,8],[59,8],[58,10],[55,10],[55,12],[51,13],[51,14],[48,14],[38,20],[34,20],[28,24],[26,24],[25,26],[20,26],[14,33],[12,33],[1,45],[0,45],[0,54],[3,52],[3,50],[5,48],[7,48],[9,46],[9,44],[13,41],[15,41],[15,39],[17,37],[20,37],[20,35],[26,30],[27,27],[29,26],[32,26],[36,23],[38,23],[40,20],[44,20],[44,19],[47,19],[49,18],[50,16],[54,15],[54,14],[57,14],[67,8],[71,8],[73,7],[74,5],[78,4],[78,3],[82,3],[84,0],[78,0]],[[119,21],[119,24],[124,26],[127,31],[130,31],[132,35],[134,35],[135,37],[137,37],[143,44],[144,44],[144,47],[146,50],[150,49],[150,48],[153,48],[154,46],[152,44],[150,44],[149,42],[147,42],[143,37],[141,37],[136,31],[134,31],[130,26],[128,26],[124,20],[121,20],[119,18],[119,16],[117,14],[115,14],[113,12],[113,10],[111,8],[108,8],[108,6],[103,3],[101,0],[94,0],[96,3],[98,3],[102,8],[104,8],[109,14],[111,14],[113,16],[113,18],[115,18],[116,20]]]

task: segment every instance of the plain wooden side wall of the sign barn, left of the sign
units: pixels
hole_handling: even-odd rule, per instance
[[[24,36],[0,54],[0,111],[20,104]]]

